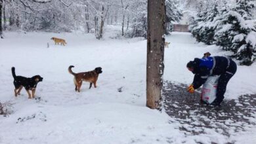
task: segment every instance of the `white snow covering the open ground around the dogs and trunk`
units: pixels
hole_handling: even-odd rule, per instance
[[[68,45],[54,45],[51,37],[66,39]],[[216,133],[187,136],[179,130],[179,122],[145,107],[146,40],[109,37],[98,41],[83,33],[5,33],[0,39],[0,101],[11,101],[14,113],[0,116],[0,143],[242,143],[245,139],[256,143],[255,127],[229,138]],[[228,54],[217,46],[196,43],[190,33],[172,33],[166,41],[171,43],[165,49],[168,81],[190,84],[189,60],[207,51],[212,56]],[[75,92],[69,65],[75,66],[74,72],[102,67],[98,87],[89,89],[83,82],[81,92]],[[37,99],[28,99],[25,90],[14,97],[12,66],[16,75],[43,77]],[[255,71],[255,63],[239,66],[225,99],[255,94]]]

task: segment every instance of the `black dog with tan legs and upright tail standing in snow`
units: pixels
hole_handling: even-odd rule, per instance
[[[13,84],[15,86],[15,96],[20,95],[20,90],[25,87],[28,92],[28,98],[35,98],[35,88],[37,88],[37,83],[43,81],[43,77],[40,77],[40,75],[35,75],[31,78],[16,76],[15,67],[12,67],[12,77],[14,78]],[[32,91],[32,94],[30,94],[30,90]]]

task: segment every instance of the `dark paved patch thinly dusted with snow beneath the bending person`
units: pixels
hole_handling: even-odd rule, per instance
[[[224,100],[221,107],[212,107],[200,103],[199,92],[186,92],[186,85],[165,82],[163,99],[165,112],[181,123],[179,129],[188,137],[209,137],[207,143],[223,143],[224,139],[235,143],[231,137],[256,128],[256,95]]]

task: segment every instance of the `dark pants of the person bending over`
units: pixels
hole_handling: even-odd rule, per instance
[[[226,73],[221,74],[219,77],[216,99],[214,101],[215,105],[219,105],[223,101],[224,94],[226,92],[226,85],[231,77],[236,73],[236,69],[236,63],[233,60],[230,60],[230,65],[228,69],[226,69]]]

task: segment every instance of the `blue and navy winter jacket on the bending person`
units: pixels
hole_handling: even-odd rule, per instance
[[[200,88],[210,75],[221,75],[226,73],[230,65],[230,58],[224,56],[213,56],[207,58],[195,58],[193,61],[195,74],[192,84],[194,88]]]

